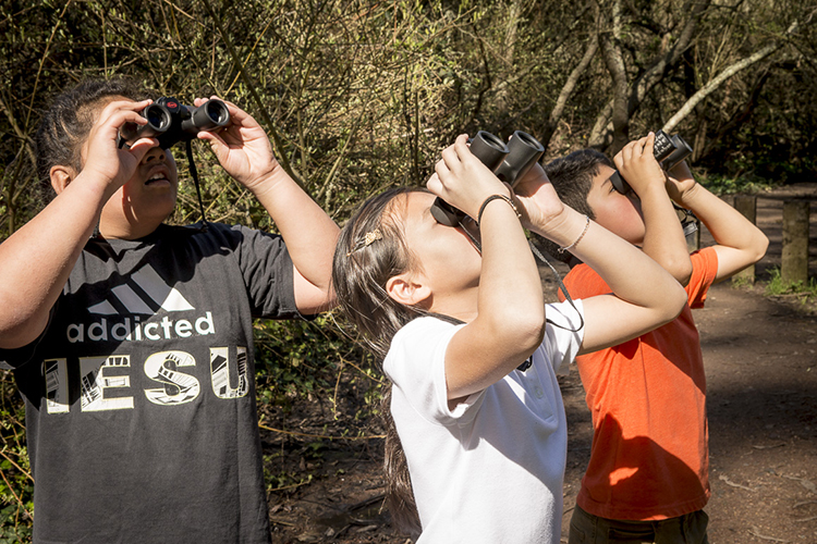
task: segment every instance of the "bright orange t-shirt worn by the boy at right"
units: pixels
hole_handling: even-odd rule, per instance
[[[660,520],[709,499],[706,378],[691,308],[718,270],[712,248],[692,254],[688,304],[671,323],[576,358],[593,413],[593,448],[576,503],[607,519]],[[610,293],[586,264],[564,279],[571,297]]]

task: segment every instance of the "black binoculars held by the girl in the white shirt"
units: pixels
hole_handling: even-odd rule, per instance
[[[541,158],[545,148],[539,140],[522,131],[513,133],[507,145],[491,133],[479,131],[471,139],[471,152],[500,181],[513,187]],[[446,226],[456,226],[467,217],[439,197],[431,206],[431,215]]]

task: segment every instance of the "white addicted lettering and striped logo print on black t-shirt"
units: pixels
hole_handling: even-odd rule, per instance
[[[209,346],[209,368],[197,361],[187,350],[200,353],[196,338],[217,338],[212,312],[197,310],[149,264],[84,300],[62,325],[69,344],[84,346],[84,356],[42,361],[48,413],[71,410],[71,368],[78,369],[74,387],[83,412],[133,409],[139,398],[160,406],[187,404],[206,393],[208,380],[217,398],[249,392],[246,347]]]

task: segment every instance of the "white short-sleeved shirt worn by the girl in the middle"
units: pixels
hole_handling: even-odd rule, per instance
[[[578,329],[575,305],[578,312],[548,305],[548,320]],[[444,357],[461,326],[415,319],[383,361],[423,526],[417,542],[558,544],[568,431],[556,370],[574,359],[584,331],[548,323],[531,368],[450,410]]]

